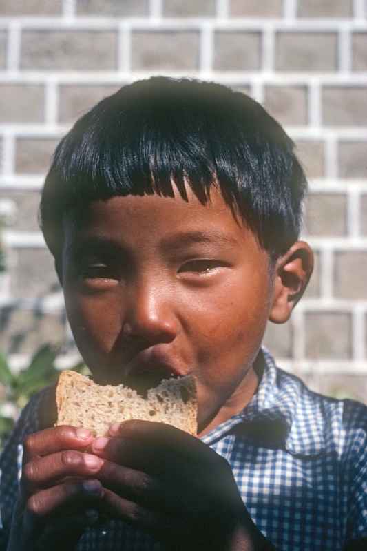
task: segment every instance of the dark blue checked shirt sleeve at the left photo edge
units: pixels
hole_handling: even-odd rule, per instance
[[[12,511],[19,491],[23,440],[39,430],[38,408],[42,393],[30,399],[0,455],[0,551],[8,544]]]

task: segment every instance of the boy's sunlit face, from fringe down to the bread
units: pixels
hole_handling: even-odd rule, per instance
[[[204,427],[248,401],[273,287],[266,251],[220,193],[207,205],[187,193],[115,197],[67,217],[62,280],[96,380],[154,386],[193,373]]]

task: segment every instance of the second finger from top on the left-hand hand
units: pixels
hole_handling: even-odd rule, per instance
[[[75,450],[36,457],[23,465],[22,488],[32,493],[35,488],[48,488],[65,477],[91,477],[101,469],[103,461],[96,455]]]

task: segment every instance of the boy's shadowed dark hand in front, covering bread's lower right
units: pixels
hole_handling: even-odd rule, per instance
[[[270,549],[247,512],[232,471],[199,439],[166,424],[131,421],[96,439],[105,459],[103,507],[175,550]]]

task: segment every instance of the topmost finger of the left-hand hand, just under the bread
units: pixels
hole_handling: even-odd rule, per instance
[[[85,428],[62,425],[45,428],[38,433],[28,435],[23,442],[23,460],[30,461],[33,457],[56,453],[61,450],[87,448],[93,440],[93,435]]]

